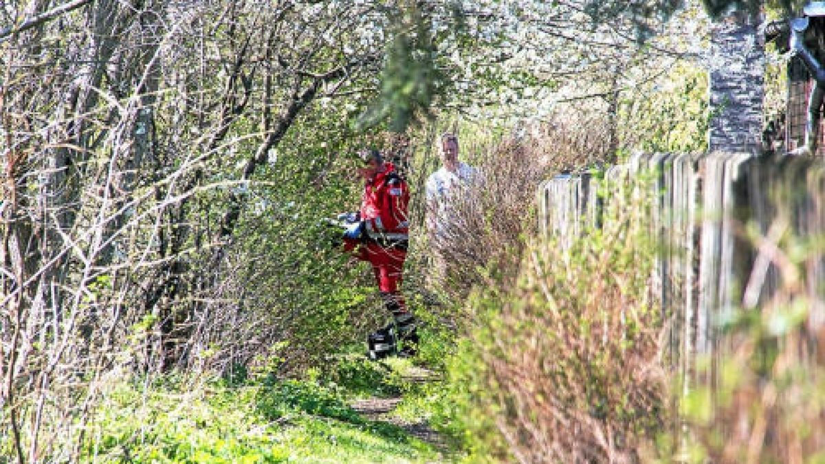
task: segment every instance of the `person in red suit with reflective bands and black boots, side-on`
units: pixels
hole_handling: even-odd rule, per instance
[[[344,248],[370,263],[384,307],[393,315],[393,324],[370,334],[370,357],[413,355],[418,343],[416,319],[398,288],[407,258],[409,189],[394,164],[385,161],[378,150],[361,150],[358,158],[363,163],[359,172],[365,180],[364,192],[361,210],[344,218],[350,222],[344,231]],[[402,341],[400,351],[398,340]]]

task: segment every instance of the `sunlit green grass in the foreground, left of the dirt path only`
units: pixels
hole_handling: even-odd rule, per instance
[[[437,462],[396,425],[362,418],[317,381],[163,381],[113,387],[83,462]]]

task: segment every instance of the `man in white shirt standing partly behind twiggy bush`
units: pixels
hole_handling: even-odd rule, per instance
[[[459,141],[450,132],[441,135],[441,168],[427,178],[427,232],[431,239],[431,249],[435,252],[435,270],[438,277],[444,277],[445,263],[443,250],[449,247],[452,203],[468,192],[478,179],[478,169],[462,163],[459,157]]]

